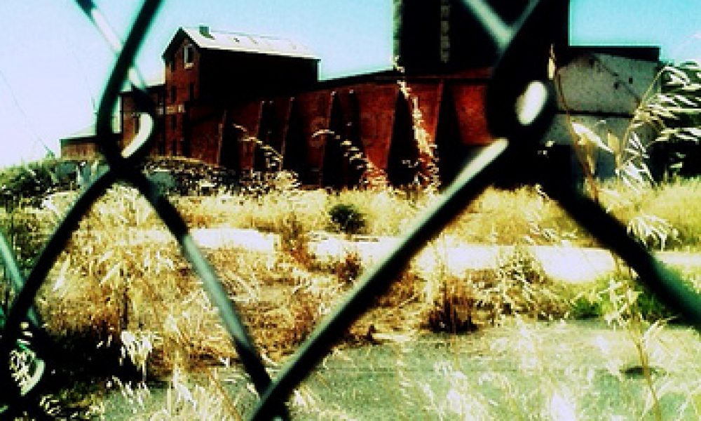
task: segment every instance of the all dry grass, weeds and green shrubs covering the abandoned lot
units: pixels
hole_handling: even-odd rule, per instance
[[[686,95],[697,89],[697,79],[688,76],[693,68],[667,72],[663,81],[676,90],[662,94],[667,102],[696,104]],[[680,123],[683,127],[666,123],[674,114],[669,109],[663,113],[664,101],[646,98],[631,133],[636,126],[653,124],[662,140],[697,138],[689,121]],[[584,134],[576,143],[618,154],[618,180],[597,185],[589,180],[587,189],[630,234],[651,250],[701,252],[701,216],[695,211],[701,203],[700,180],[670,171],[665,182],[653,182],[642,159],[650,145],[639,145],[632,134],[626,136],[627,144],[617,146],[621,142],[611,137],[577,133]],[[672,163],[672,170],[680,168],[679,162]],[[425,166],[436,168],[435,162]],[[163,167],[182,176],[164,177]],[[58,168],[59,163],[47,161],[0,174],[0,226],[25,270],[81,184],[80,171],[61,174]],[[94,168],[99,171],[98,165]],[[240,182],[222,168],[186,159],[149,161],[144,170],[170,195],[190,227],[210,233],[239,229],[237,235],[263,241],[208,246],[205,253],[273,373],[372,265],[352,245],[374,244],[376,254],[383,253],[381,245],[407,232],[438,194],[432,176],[423,189],[393,189],[372,180],[362,189],[327,192],[302,189],[294,174],[285,171]],[[322,253],[324,244],[336,245],[336,253]],[[498,250],[493,265],[455,270],[447,250],[474,244]],[[350,355],[369,346],[395,349],[391,368],[396,381],[386,380],[383,386],[399,393],[388,405],[396,413],[415,406],[413,414],[427,419],[699,419],[698,376],[673,383],[668,373],[682,368],[671,365],[674,358],[660,357],[660,338],[680,328],[676,314],[618,260],[605,276],[564,283],[551,278],[533,246],[598,245],[538,186],[487,189],[426,245],[422,255],[428,260],[412,260],[388,293],[343,333],[332,354]],[[699,269],[679,271],[691,288],[701,289]],[[6,310],[13,291],[7,283],[0,285]],[[43,401],[53,414],[104,416],[104,395],[116,389],[132,411],[130,419],[238,420],[256,396],[247,377],[232,374],[239,373],[238,356],[217,309],[162,222],[131,187],[114,185],[95,203],[57,259],[36,307],[55,341],[55,360],[63,362],[53,372],[55,383],[65,386],[74,380],[72,388],[59,387]],[[596,344],[606,361],[604,375],[579,370],[573,362],[556,376],[544,355],[557,345],[546,344],[539,335],[548,327],[592,319],[612,332],[625,332],[635,360],[620,360],[613,342],[601,336]],[[486,354],[515,353],[520,363],[513,373],[488,367],[475,386],[459,358],[472,351],[457,347],[456,338],[482,338],[478,335],[499,329],[508,338],[477,345],[486,347]],[[442,387],[414,377],[404,354],[426,338],[437,338],[448,351],[433,367]],[[690,338],[665,355],[694,352],[697,333]],[[533,387],[518,380],[534,375],[548,381]],[[151,396],[154,382],[161,382],[164,394]],[[601,401],[602,388],[617,391],[615,406]],[[308,383],[294,393],[291,406],[301,419],[353,418],[348,408],[322,403]]]

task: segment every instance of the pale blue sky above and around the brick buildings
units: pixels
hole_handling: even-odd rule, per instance
[[[98,1],[124,34],[137,0]],[[392,0],[165,1],[138,65],[161,76],[179,26],[285,36],[321,58],[323,78],[390,67]],[[662,46],[701,61],[701,0],[572,0],[573,44]],[[41,142],[88,126],[114,57],[72,0],[0,0],[0,166],[45,154]],[[39,141],[41,140],[41,142]]]

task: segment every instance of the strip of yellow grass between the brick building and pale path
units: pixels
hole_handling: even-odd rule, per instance
[[[697,250],[701,247],[701,201],[698,180],[632,191],[616,182],[601,186],[604,206],[624,224],[665,230],[667,238],[648,238],[651,247]],[[374,236],[399,236],[436,196],[395,189],[351,190],[329,194],[322,190],[273,190],[254,196],[179,197],[179,210],[193,227],[239,227],[283,234],[286,238],[329,229],[327,213],[338,203],[365,216],[365,231]],[[642,226],[641,226],[642,225]],[[448,228],[468,243],[559,244],[598,246],[538,187],[487,189]]]

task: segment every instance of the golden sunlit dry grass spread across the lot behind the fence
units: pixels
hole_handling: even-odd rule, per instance
[[[613,184],[601,186],[601,192],[604,206],[650,248],[699,251],[701,215],[695,212],[695,206],[701,203],[698,180],[660,185],[643,194],[630,194]],[[20,203],[2,215],[3,227],[13,234],[27,265],[75,196],[75,192],[50,194],[39,203]],[[309,247],[311,241],[321,233],[347,241],[358,236],[400,236],[436,201],[436,196],[389,188],[327,192],[282,182],[254,194],[224,192],[171,199],[190,227],[254,229],[275,234],[278,240],[273,253],[237,247],[208,248],[205,252],[264,359],[274,367],[294,352],[367,269],[367,262],[352,250],[332,260],[319,258]],[[348,220],[355,222],[348,225]],[[109,384],[132,396],[130,405],[141,414],[139,419],[238,419],[245,411],[226,397],[222,380],[215,375],[219,368],[236,365],[231,339],[175,241],[167,234],[165,240],[144,239],[142,233],[154,230],[165,232],[148,203],[130,187],[112,187],[81,222],[41,290],[36,305],[46,329],[64,347],[69,360],[81,361],[79,368],[69,364],[67,373],[79,371],[88,373],[88,377],[100,373],[100,378],[109,379],[123,371],[120,367],[131,367],[136,378],[117,377],[120,380],[109,380]],[[535,326],[533,321],[599,319],[629,334],[639,356],[641,375],[648,380],[639,387],[652,402],[648,406],[644,400],[632,400],[627,408],[630,413],[623,418],[611,413],[608,419],[655,416],[659,407],[655,402],[662,399],[666,389],[662,377],[653,378],[646,370],[650,365],[648,353],[651,338],[664,329],[665,323],[674,322],[674,313],[638,286],[625,265],[604,279],[587,283],[574,285],[550,279],[529,254],[529,246],[597,247],[597,242],[557,203],[537,187],[488,189],[442,234],[443,238],[448,236],[463,243],[515,247],[498,256],[495,267],[468,270],[459,276],[442,266],[446,262],[440,255],[435,257],[436,269],[428,274],[415,260],[394,281],[390,292],[377,298],[374,307],[344,335],[341,351],[414,343],[411,341],[421,335],[435,333],[450,338],[499,326],[520,326],[516,331],[523,337],[518,337],[520,342],[514,346],[524,358],[532,354],[538,359],[538,347],[547,345],[538,342],[531,332],[538,330],[537,326],[529,327]],[[692,271],[683,276],[690,284],[699,285],[699,273]],[[458,354],[448,355],[458,359]],[[540,368],[547,368],[547,361],[536,362]],[[499,377],[501,374],[494,369],[493,377]],[[527,375],[531,369],[526,365],[517,371]],[[398,363],[396,370],[402,373],[404,368]],[[209,374],[201,377],[202,373]],[[599,393],[591,379],[580,389],[577,382],[566,382],[565,389],[533,392],[500,377],[498,382],[510,391],[507,396],[512,401],[500,402],[501,409],[497,409],[491,408],[489,395],[479,397],[468,390],[461,380],[464,374],[459,364],[446,366],[441,373],[449,385],[447,392],[439,394],[435,386],[424,387],[418,380],[412,384],[411,379],[401,380],[404,383],[395,387],[411,389],[411,399],[425,403],[427,408],[433,405],[427,417],[445,419],[470,419],[470,414],[475,419],[495,419],[504,414],[501,406],[519,408],[531,394],[540,396],[529,403],[532,407],[523,406],[510,414],[525,419],[560,414],[564,418],[552,418],[569,419],[566,415],[570,413],[590,413],[578,406],[578,399],[585,401],[586,396]],[[586,373],[583,375],[586,380]],[[138,396],[145,393],[146,383],[138,380],[169,382],[169,392],[156,408],[139,406]],[[627,382],[623,378],[620,381]],[[245,381],[241,387],[247,387]],[[674,403],[673,409],[683,415],[681,419],[699,416],[701,385],[684,388],[683,396],[688,399]],[[102,393],[104,389],[88,393],[81,405],[83,413],[104,412]],[[304,394],[304,389],[294,396],[298,409],[307,414],[303,417],[336,419],[343,413],[314,403],[310,396]],[[452,396],[452,401],[445,401],[446,396]],[[74,404],[75,399],[71,394],[58,396],[63,406]]]

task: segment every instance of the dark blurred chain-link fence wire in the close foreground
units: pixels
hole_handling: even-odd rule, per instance
[[[486,117],[495,140],[482,147],[463,167],[456,180],[445,190],[441,200],[409,229],[407,236],[379,265],[370,269],[348,293],[345,300],[320,323],[275,379],[264,368],[261,355],[254,346],[247,327],[233,302],[229,300],[217,272],[195,245],[188,227],[175,207],[158,192],[158,188],[138,171],[139,162],[147,155],[154,133],[156,112],[144,82],[132,67],[139,45],[148,33],[149,25],[158,14],[161,0],[144,0],[127,39],[118,41],[107,19],[92,0],[76,0],[86,17],[104,36],[117,55],[97,112],[96,135],[109,164],[83,189],[61,224],[50,236],[39,258],[27,276],[23,276],[6,236],[0,232],[0,255],[6,268],[15,299],[6,314],[0,338],[0,415],[21,413],[39,395],[41,379],[46,371],[50,342],[42,333],[41,319],[32,308],[34,298],[50,268],[62,252],[80,220],[90,206],[117,181],[128,182],[151,203],[156,213],[179,243],[182,254],[189,260],[203,286],[219,309],[224,328],[231,336],[243,367],[250,375],[260,398],[252,420],[289,419],[285,402],[316,364],[329,352],[341,333],[367,311],[372,298],[386,292],[390,280],[398,275],[411,257],[426,242],[433,239],[465,206],[487,186],[504,178],[518,181],[526,175],[538,182],[545,192],[556,199],[585,229],[597,236],[605,246],[618,253],[665,305],[675,309],[695,328],[701,327],[701,299],[684,286],[681,279],[648,253],[644,246],[627,235],[623,225],[608,215],[597,203],[578,192],[566,176],[549,168],[547,150],[539,145],[540,138],[554,116],[554,88],[547,76],[547,57],[552,34],[557,27],[552,22],[555,8],[567,0],[531,1],[514,25],[506,25],[484,0],[463,0],[464,6],[494,40],[500,59],[494,67],[486,94]],[[143,112],[135,140],[125,150],[111,138],[111,113],[118,93],[128,81],[137,97],[137,107]],[[526,107],[517,107],[525,103]],[[545,152],[545,153],[544,153]],[[530,174],[529,174],[530,173]],[[27,335],[31,340],[27,342]],[[27,345],[29,343],[30,345]],[[30,373],[18,381],[13,372],[11,355],[20,349],[31,358]]]

